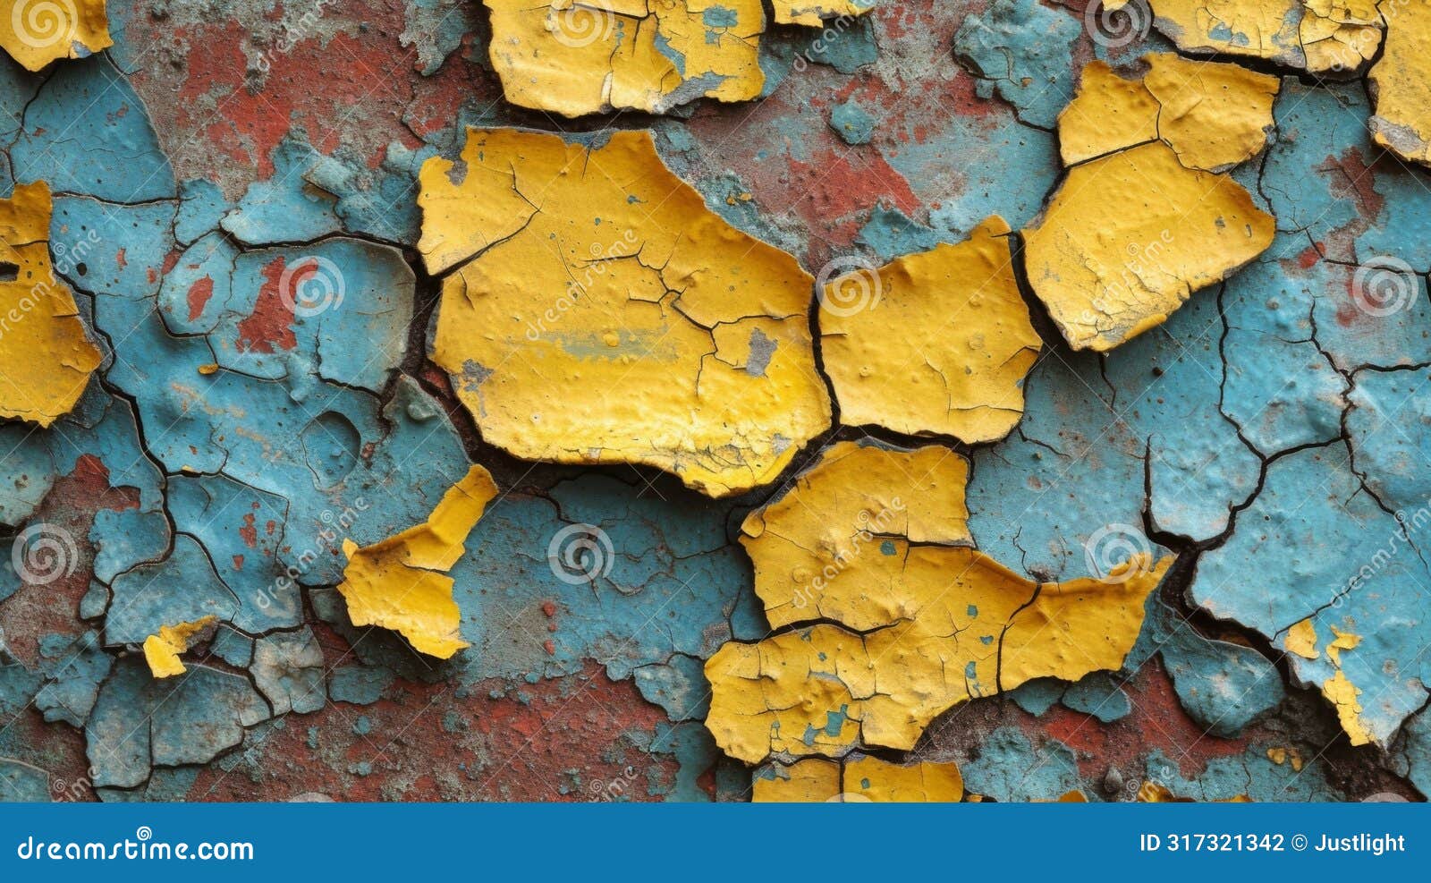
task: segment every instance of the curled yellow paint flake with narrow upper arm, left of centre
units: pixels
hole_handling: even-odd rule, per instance
[[[467,647],[462,611],[445,574],[467,551],[467,535],[494,497],[492,477],[474,465],[426,522],[362,548],[345,540],[348,567],[338,591],[352,624],[391,628],[419,653],[444,660]]]

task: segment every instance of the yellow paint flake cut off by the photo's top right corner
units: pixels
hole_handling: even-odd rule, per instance
[[[1431,165],[1431,0],[1387,4],[1394,14],[1385,52],[1368,76],[1377,109],[1371,133],[1382,147]]]

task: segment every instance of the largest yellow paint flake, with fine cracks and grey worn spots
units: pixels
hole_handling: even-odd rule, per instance
[[[419,248],[434,273],[455,268],[432,358],[487,441],[721,497],[830,425],[811,276],[711,213],[648,133],[588,150],[471,130],[462,163],[424,165]]]

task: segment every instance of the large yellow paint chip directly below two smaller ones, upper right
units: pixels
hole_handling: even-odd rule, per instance
[[[1023,232],[1025,263],[1069,345],[1108,351],[1255,259],[1274,232],[1241,185],[1156,142],[1073,166]]]

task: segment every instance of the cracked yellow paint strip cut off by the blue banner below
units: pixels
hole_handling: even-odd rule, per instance
[[[897,764],[879,757],[771,764],[756,773],[754,803],[959,803],[964,780],[954,763]]]

